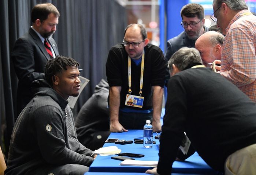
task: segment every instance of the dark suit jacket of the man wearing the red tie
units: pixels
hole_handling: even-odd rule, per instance
[[[55,55],[59,55],[55,40],[50,38],[48,41]],[[17,92],[17,114],[19,115],[33,97],[31,83],[36,79],[44,79],[44,66],[50,57],[42,40],[32,28],[29,28],[28,33],[16,40],[11,59],[19,79]]]

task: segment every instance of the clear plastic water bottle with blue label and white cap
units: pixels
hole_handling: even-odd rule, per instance
[[[143,147],[152,148],[153,147],[153,127],[150,124],[150,120],[146,121],[146,124],[144,125],[143,130],[144,130]]]

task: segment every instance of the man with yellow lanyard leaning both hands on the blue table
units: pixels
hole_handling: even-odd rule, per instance
[[[110,131],[142,129],[151,120],[161,131],[166,61],[162,50],[149,44],[145,28],[130,24],[123,43],[111,48],[106,63],[109,92]]]

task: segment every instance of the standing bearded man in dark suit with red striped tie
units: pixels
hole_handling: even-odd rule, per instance
[[[31,11],[33,25],[28,33],[15,42],[11,59],[19,79],[17,116],[33,97],[31,83],[36,79],[43,79],[45,64],[59,55],[57,44],[52,38],[59,16],[59,11],[51,3],[35,5]]]

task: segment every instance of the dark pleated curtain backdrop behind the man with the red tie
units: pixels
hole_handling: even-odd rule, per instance
[[[10,60],[15,40],[29,27],[30,12],[37,3],[52,3],[60,12],[57,31],[53,35],[60,55],[72,57],[83,69],[81,76],[90,79],[73,109],[74,117],[94,91],[101,78],[106,78],[108,51],[122,42],[127,26],[124,7],[115,0],[1,0],[0,1],[0,114],[2,149],[8,149],[16,115],[18,79]],[[2,141],[2,139],[1,139]],[[3,149],[3,150],[5,150]]]

